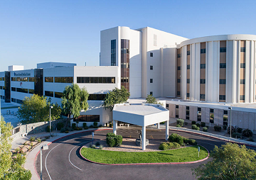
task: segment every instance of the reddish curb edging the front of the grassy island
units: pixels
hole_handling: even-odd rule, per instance
[[[87,144],[89,144],[90,142],[88,142]],[[82,147],[85,147],[84,145]],[[106,164],[106,163],[101,163],[101,162],[93,162],[85,157],[82,156],[81,154],[81,150],[82,150],[82,147],[80,147],[80,150],[79,150],[79,154],[80,156],[85,159],[86,161],[88,162],[92,162],[92,163],[95,163],[95,164],[102,164],[102,165],[110,165],[110,166],[124,166],[124,165],[163,165],[163,164],[193,164],[193,163],[197,163],[197,162],[203,162],[205,161],[206,159],[208,159],[210,157],[210,152],[206,149],[206,147],[203,147],[201,145],[201,147],[205,148],[208,152],[208,155],[206,158],[203,158],[203,159],[200,159],[200,160],[197,160],[197,161],[194,161],[194,162],[151,162],[151,163],[129,163],[129,164]]]

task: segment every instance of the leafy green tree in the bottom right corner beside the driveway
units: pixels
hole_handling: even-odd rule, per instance
[[[213,161],[193,169],[198,179],[256,179],[256,152],[245,145],[215,146],[210,157]]]

